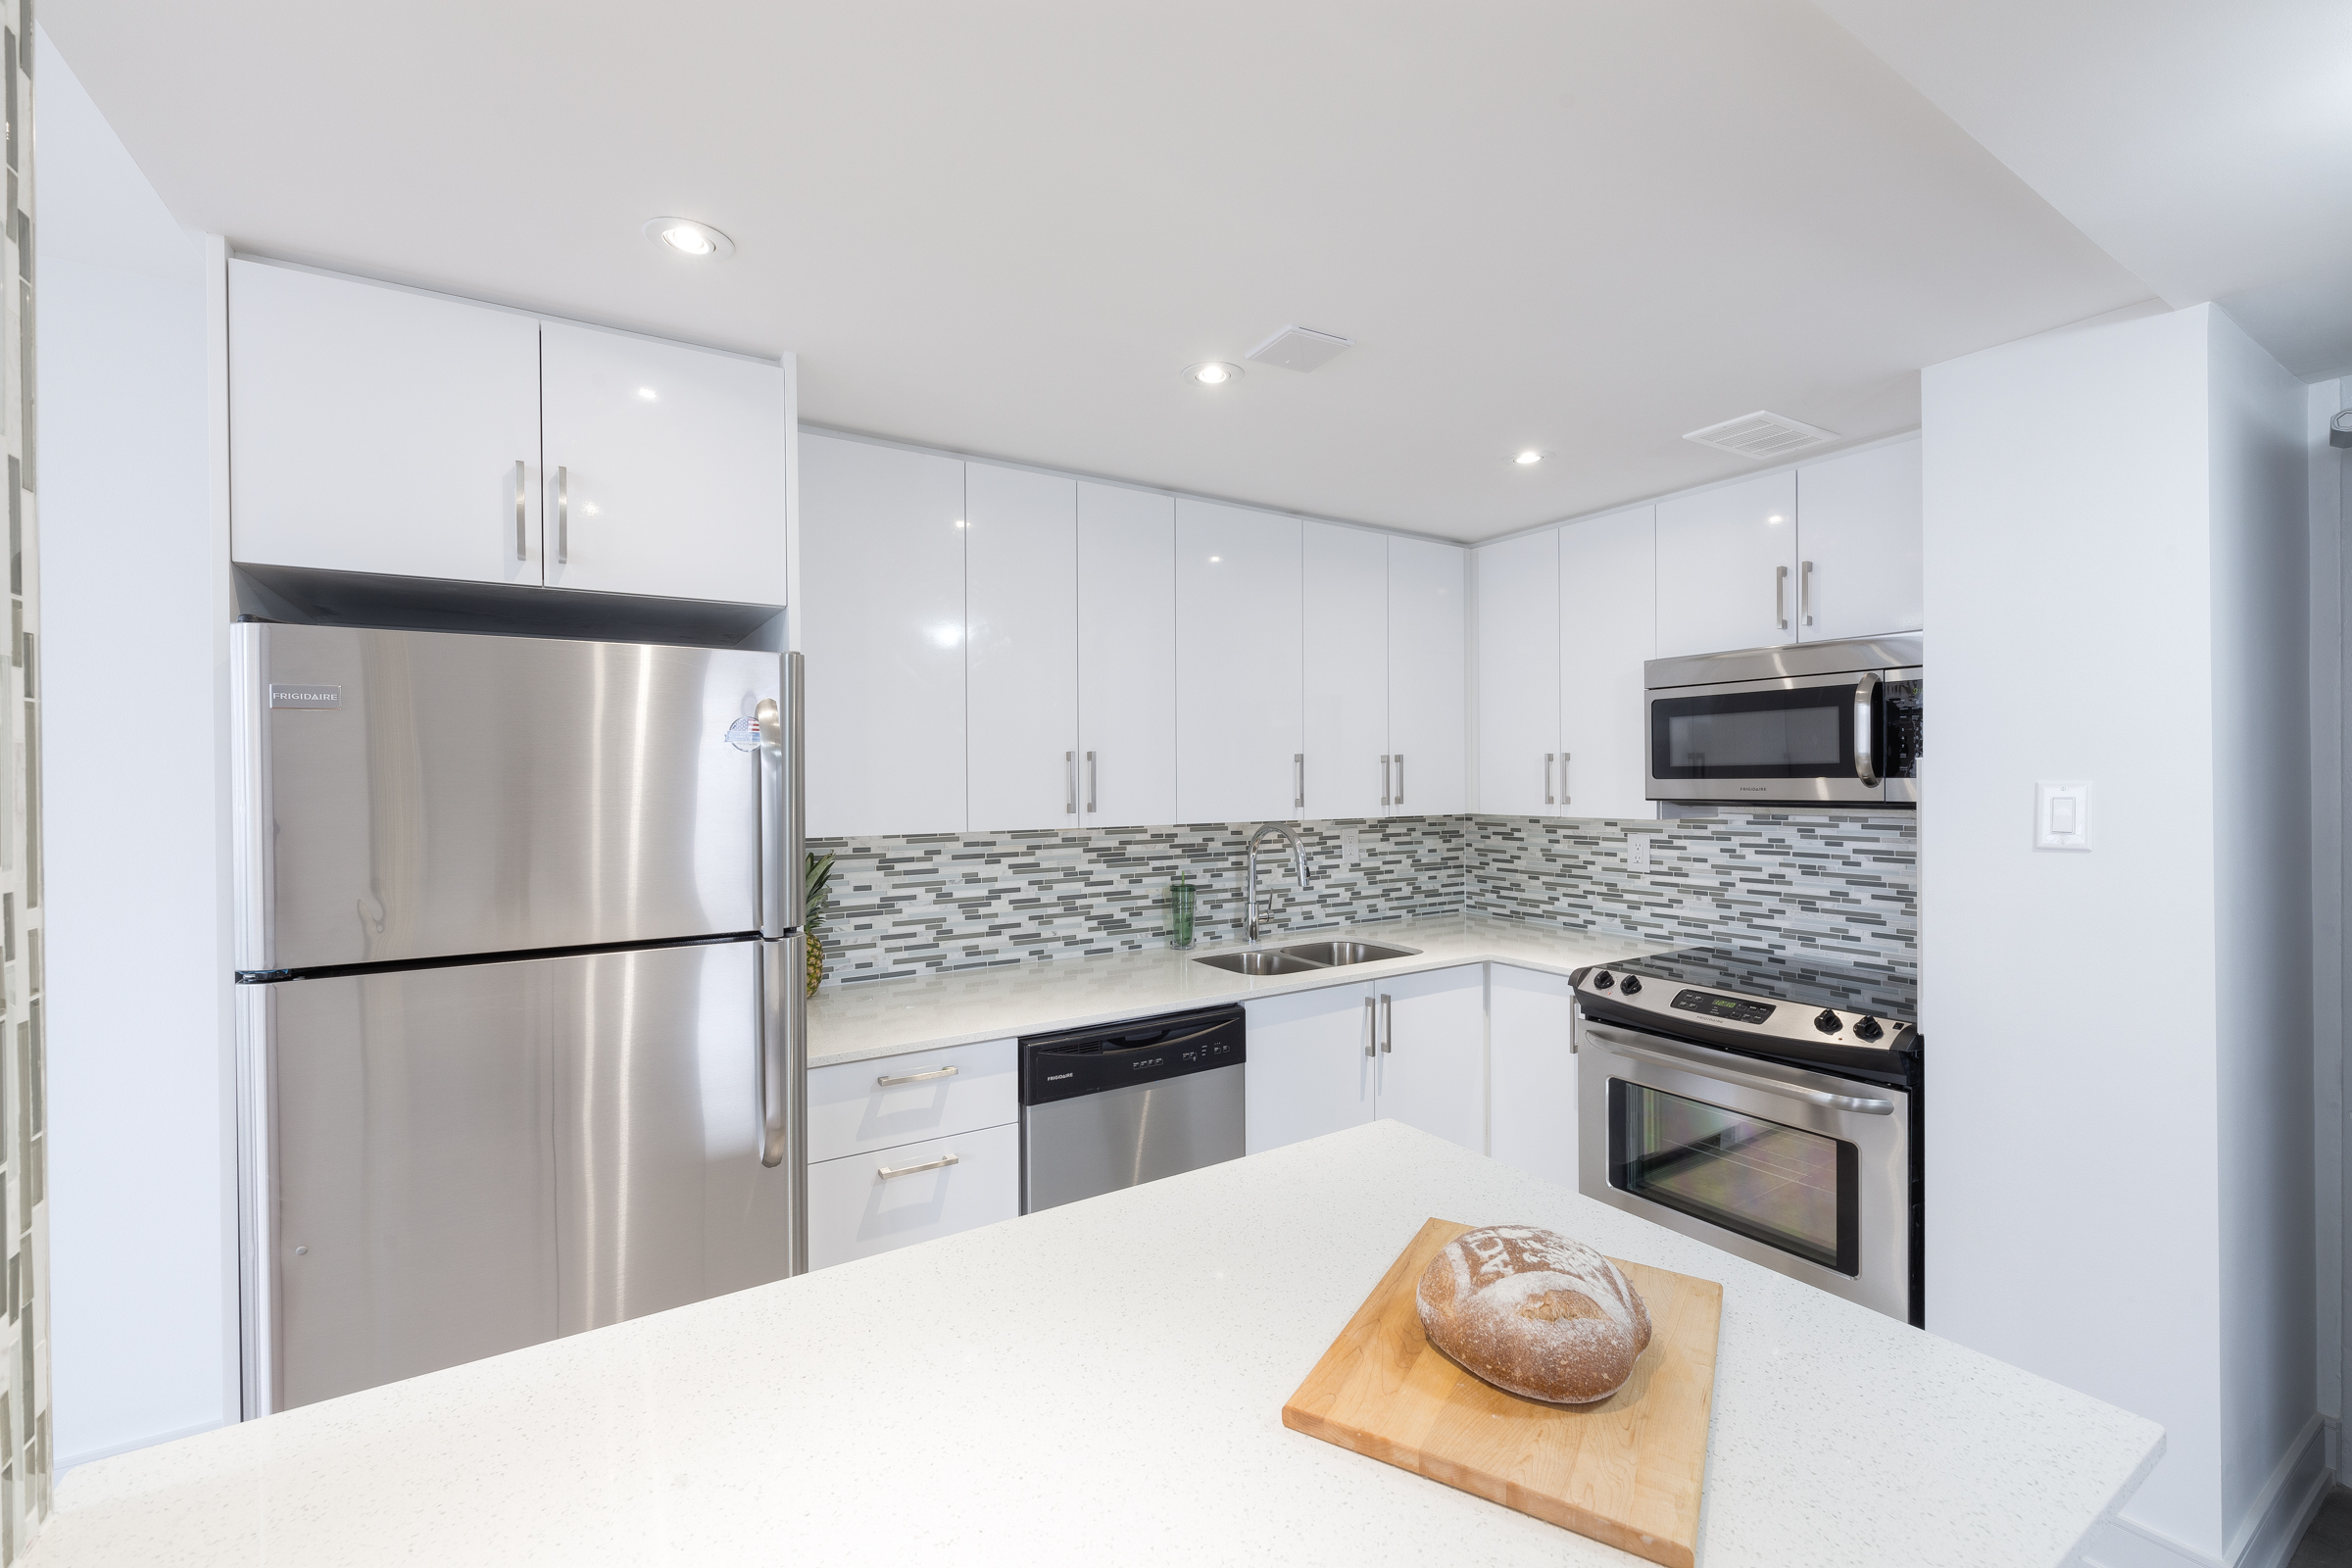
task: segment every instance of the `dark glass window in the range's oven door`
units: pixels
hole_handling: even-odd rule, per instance
[[[1839,1274],[1860,1274],[1856,1147],[1609,1079],[1609,1185]]]

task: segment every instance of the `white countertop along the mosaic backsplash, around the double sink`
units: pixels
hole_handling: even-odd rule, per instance
[[[1249,978],[1195,964],[1209,952],[1242,952],[1244,943],[1202,945],[1190,952],[1148,947],[1105,952],[1091,959],[1051,959],[964,969],[906,980],[835,985],[809,999],[809,1065],[861,1063],[936,1046],[962,1046],[1007,1034],[1077,1030],[1190,1006],[1242,1001],[1279,992],[1352,985],[1381,976],[1454,969],[1456,964],[1515,964],[1569,973],[1585,964],[1618,964],[1644,952],[1668,952],[1689,943],[1642,936],[1595,936],[1519,919],[1463,917],[1383,919],[1362,926],[1319,926],[1270,936],[1258,947],[1284,943],[1362,940],[1418,947],[1409,959],[1348,964],[1301,976]]]

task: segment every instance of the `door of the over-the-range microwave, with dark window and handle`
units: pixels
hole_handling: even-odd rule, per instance
[[[1649,799],[1884,802],[1879,672],[1783,675],[1649,691]]]

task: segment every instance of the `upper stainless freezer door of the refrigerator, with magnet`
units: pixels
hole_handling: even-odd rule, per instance
[[[760,929],[776,654],[235,628],[238,969]],[[739,724],[741,719],[741,724]]]

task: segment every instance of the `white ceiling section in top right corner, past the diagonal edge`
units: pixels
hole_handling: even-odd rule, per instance
[[[2169,306],[2352,369],[2343,0],[1820,0]]]

